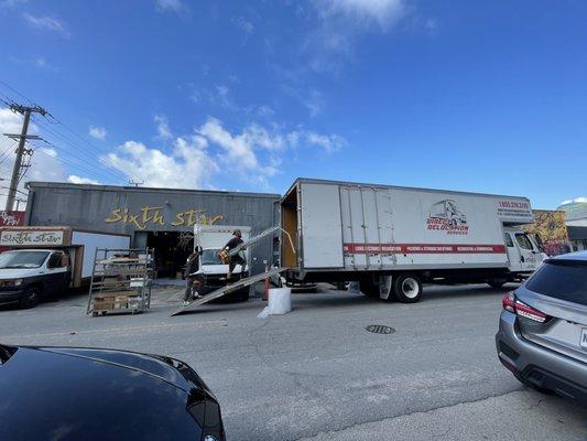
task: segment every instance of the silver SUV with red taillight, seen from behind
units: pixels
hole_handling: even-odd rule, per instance
[[[540,391],[587,401],[587,251],[545,260],[502,304],[503,366]]]

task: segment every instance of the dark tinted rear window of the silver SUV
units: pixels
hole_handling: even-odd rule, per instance
[[[587,262],[550,260],[526,282],[539,294],[587,305]]]

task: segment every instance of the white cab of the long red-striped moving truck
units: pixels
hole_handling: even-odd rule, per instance
[[[521,229],[503,228],[503,241],[508,250],[511,272],[530,275],[547,258],[535,240]]]

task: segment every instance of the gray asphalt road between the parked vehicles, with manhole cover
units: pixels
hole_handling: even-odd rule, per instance
[[[586,409],[522,387],[497,361],[501,291],[427,287],[400,304],[333,290],[269,319],[259,299],[170,318],[178,298],[157,292],[141,315],[88,318],[81,295],[0,311],[0,341],[183,359],[217,395],[229,440],[587,440]]]

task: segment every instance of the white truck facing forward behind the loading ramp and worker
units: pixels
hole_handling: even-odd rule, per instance
[[[194,250],[199,254],[199,262],[198,270],[193,276],[200,281],[199,294],[205,295],[236,280],[249,277],[249,249],[239,251],[247,263],[244,268],[237,265],[229,280],[227,279],[228,265],[222,263],[218,257],[218,251],[232,238],[235,229],[241,230],[243,241],[251,236],[250,227],[224,225],[196,225],[194,227]],[[248,288],[246,291],[237,291],[236,295],[244,300],[248,298]]]

